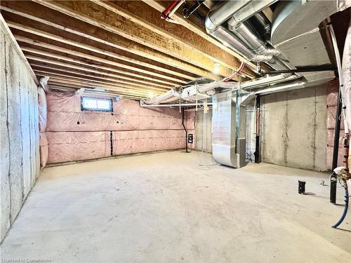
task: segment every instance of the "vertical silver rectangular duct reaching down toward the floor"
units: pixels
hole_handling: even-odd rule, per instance
[[[246,165],[245,107],[240,106],[238,93],[230,91],[216,94],[213,97],[212,115],[213,159],[234,168]]]

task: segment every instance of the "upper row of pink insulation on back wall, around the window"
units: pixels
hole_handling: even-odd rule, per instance
[[[136,100],[113,102],[113,112],[81,111],[81,96],[48,93],[46,131],[178,130],[183,129],[179,109],[144,108]],[[187,128],[194,128],[194,113],[187,114]],[[53,121],[60,120],[60,121]]]

